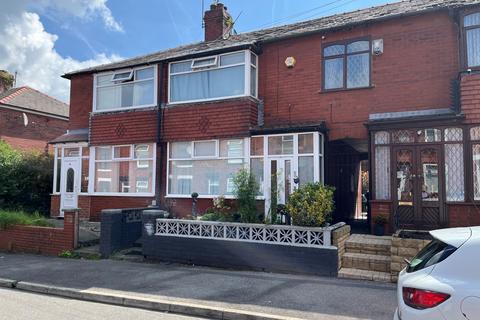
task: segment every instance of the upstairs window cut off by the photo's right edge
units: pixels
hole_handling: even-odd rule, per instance
[[[480,67],[480,12],[463,18],[467,67]]]

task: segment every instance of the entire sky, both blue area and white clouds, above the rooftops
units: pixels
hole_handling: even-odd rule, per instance
[[[0,70],[66,102],[66,72],[203,40],[202,0],[0,2]],[[238,32],[387,2],[394,0],[223,0]]]

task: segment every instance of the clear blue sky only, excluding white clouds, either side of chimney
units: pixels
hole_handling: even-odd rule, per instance
[[[211,0],[204,0],[207,7]],[[265,28],[337,12],[384,4],[384,0],[225,0],[236,30]],[[392,2],[392,1],[390,1]],[[110,0],[112,15],[124,32],[103,28],[100,20],[56,21],[42,16],[46,31],[59,36],[56,49],[62,56],[78,60],[98,53],[132,57],[181,44],[201,41],[201,0]],[[316,10],[311,10],[317,8]],[[298,15],[298,13],[303,13]],[[289,18],[290,17],[290,18]]]

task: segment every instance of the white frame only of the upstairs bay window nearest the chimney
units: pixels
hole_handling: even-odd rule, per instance
[[[245,60],[242,63],[236,63],[236,64],[231,64],[227,66],[221,66],[220,61],[222,56],[228,56],[231,54],[243,52],[245,54]],[[256,65],[252,64],[252,55],[255,56],[256,58]],[[215,68],[212,68],[211,66],[201,66],[197,68],[193,68],[193,63],[196,60],[206,60],[206,59],[211,59],[215,57]],[[192,60],[191,62],[191,71],[183,71],[183,72],[175,72],[172,73],[172,65],[176,63],[185,63]],[[172,101],[171,100],[171,78],[172,75],[179,75],[179,74],[187,74],[187,73],[196,73],[196,72],[203,72],[205,70],[211,70],[211,69],[224,69],[224,68],[231,68],[231,67],[236,67],[236,66],[244,66],[244,93],[240,95],[233,95],[233,96],[225,96],[225,97],[216,97],[216,98],[206,98],[206,99],[194,99],[194,100],[185,100],[185,101]],[[251,86],[250,86],[250,72],[251,72],[251,67],[255,69],[255,78],[256,78],[256,85],[255,85],[255,94],[252,95],[251,92]],[[195,103],[195,102],[206,102],[206,101],[218,101],[218,100],[229,100],[229,99],[236,99],[236,98],[241,98],[241,97],[253,97],[253,98],[258,98],[258,56],[253,53],[250,50],[239,50],[239,51],[232,51],[232,52],[227,52],[227,53],[222,53],[218,54],[215,56],[208,56],[208,57],[202,57],[202,58],[197,58],[197,59],[187,59],[187,60],[181,60],[181,61],[174,61],[170,62],[168,64],[168,105],[179,105],[179,104],[188,104],[188,103]]]

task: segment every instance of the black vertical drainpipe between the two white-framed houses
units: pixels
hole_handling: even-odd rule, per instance
[[[163,147],[162,147],[162,93],[163,93],[163,63],[158,64],[158,88],[157,88],[157,171],[156,171],[156,186],[155,186],[155,201],[157,207],[160,207],[160,189],[162,186],[163,177]],[[160,150],[160,152],[158,152]]]

